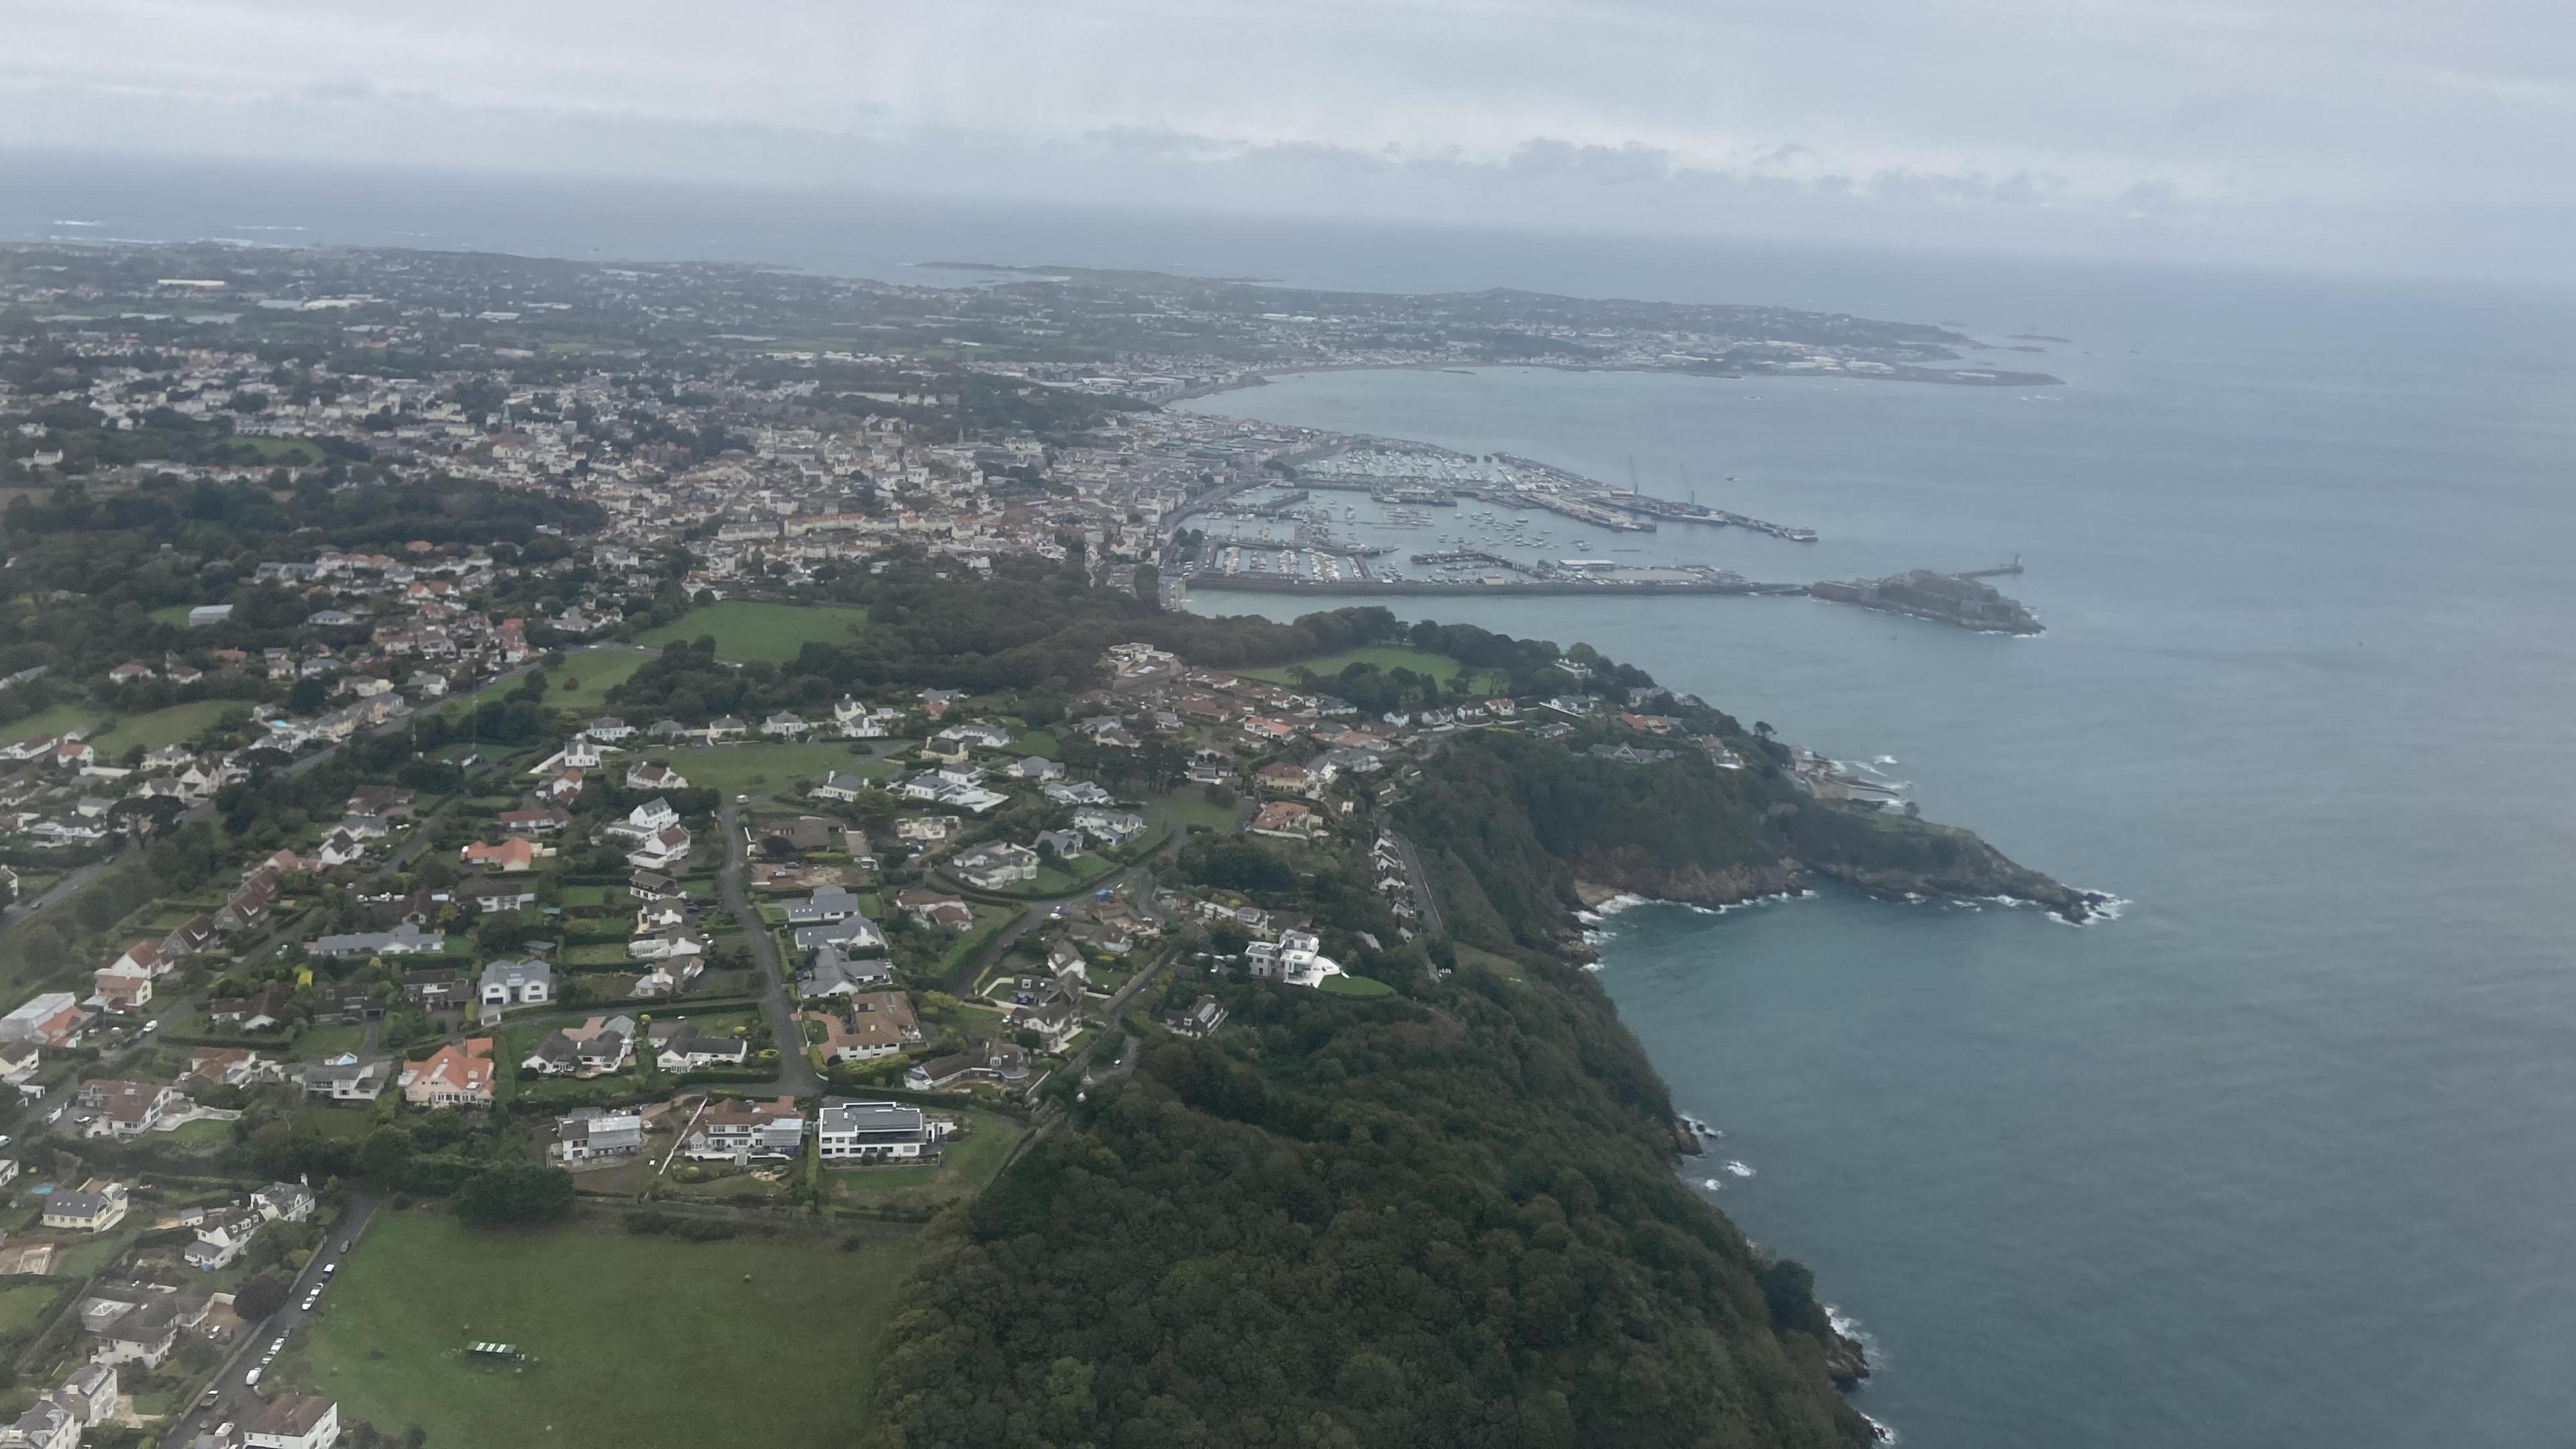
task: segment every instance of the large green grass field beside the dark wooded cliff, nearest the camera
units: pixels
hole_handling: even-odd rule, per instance
[[[909,1266],[904,1238],[845,1253],[389,1212],[332,1281],[307,1361],[343,1418],[420,1423],[430,1444],[819,1449],[850,1439]],[[474,1341],[528,1361],[471,1366]]]

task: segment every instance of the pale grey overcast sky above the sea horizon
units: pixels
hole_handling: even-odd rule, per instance
[[[0,0],[0,144],[2571,281],[2576,0]]]

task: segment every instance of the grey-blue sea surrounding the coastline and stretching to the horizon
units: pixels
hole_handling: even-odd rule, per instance
[[[1906,1446],[2411,1449],[2576,1423],[2563,299],[23,155],[0,155],[0,235],[1528,286],[2043,348],[1978,356],[2066,387],[1479,369],[1198,407],[1618,482],[1633,462],[1654,492],[1824,534],[1656,536],[1754,578],[2025,557],[2002,583],[2038,639],[1803,598],[1386,601],[1589,639],[2130,897],[2092,928],[1834,890],[1597,926],[1674,1104],[1723,1132],[1687,1181],[1814,1263],[1880,1359],[1860,1405]]]

